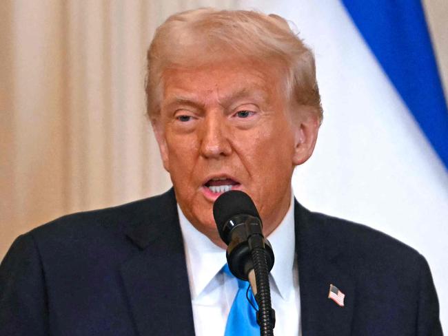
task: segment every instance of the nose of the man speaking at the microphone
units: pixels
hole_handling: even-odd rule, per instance
[[[225,116],[220,113],[210,113],[205,117],[202,129],[201,155],[205,158],[220,158],[228,156],[232,147],[228,141],[225,127]]]

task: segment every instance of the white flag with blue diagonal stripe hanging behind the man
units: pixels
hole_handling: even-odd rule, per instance
[[[314,50],[324,109],[294,193],[427,258],[448,330],[448,111],[418,0],[245,0]]]

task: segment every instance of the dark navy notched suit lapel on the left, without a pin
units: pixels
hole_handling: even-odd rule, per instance
[[[139,250],[121,266],[136,329],[140,336],[194,335],[174,191],[155,198],[145,217],[127,229]]]

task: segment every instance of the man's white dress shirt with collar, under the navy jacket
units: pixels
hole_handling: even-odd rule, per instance
[[[179,207],[196,336],[224,335],[238,284],[221,271],[225,250],[216,246],[185,218]],[[294,196],[289,210],[269,235],[274,267],[269,275],[272,308],[276,311],[274,335],[301,335],[300,293],[295,256]]]

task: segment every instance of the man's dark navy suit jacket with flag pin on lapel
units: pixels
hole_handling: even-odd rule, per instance
[[[295,221],[304,336],[442,335],[422,255],[297,202]],[[0,266],[0,335],[194,335],[174,191],[17,238]]]

